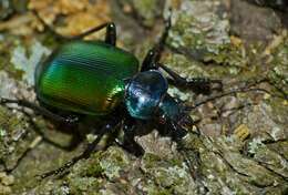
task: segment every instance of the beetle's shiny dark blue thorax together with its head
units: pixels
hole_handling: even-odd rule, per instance
[[[126,85],[125,104],[131,116],[141,120],[157,117],[174,124],[191,124],[192,120],[172,96],[168,83],[160,71],[140,72]]]

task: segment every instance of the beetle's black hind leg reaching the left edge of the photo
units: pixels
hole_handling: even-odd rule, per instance
[[[23,107],[31,109],[43,116],[50,117],[53,121],[63,122],[63,123],[66,123],[70,125],[73,125],[79,121],[78,117],[63,117],[61,115],[54,114],[51,111],[49,111],[44,107],[41,107],[34,103],[28,102],[25,100],[10,100],[10,99],[0,98],[0,104],[11,104],[11,103],[18,104]]]

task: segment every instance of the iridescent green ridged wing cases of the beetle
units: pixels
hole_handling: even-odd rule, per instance
[[[72,41],[37,66],[35,91],[47,105],[105,115],[124,99],[124,80],[137,72],[138,61],[128,52],[100,41]]]

